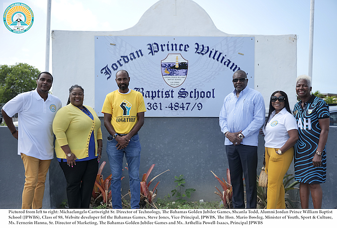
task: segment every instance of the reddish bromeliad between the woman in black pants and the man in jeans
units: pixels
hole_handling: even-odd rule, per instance
[[[103,204],[108,207],[111,204],[111,190],[109,190],[111,177],[107,177],[105,180],[102,175],[102,170],[107,162],[103,161],[100,168],[98,169],[98,174],[95,180],[95,186],[92,193],[92,204]],[[100,203],[100,199],[103,197],[103,202]],[[112,205],[111,205],[112,207]]]

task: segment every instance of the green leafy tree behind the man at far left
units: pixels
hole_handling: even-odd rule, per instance
[[[40,71],[28,64],[0,65],[0,103],[36,88]]]

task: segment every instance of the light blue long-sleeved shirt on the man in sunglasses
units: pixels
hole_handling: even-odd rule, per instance
[[[242,131],[244,138],[241,144],[258,146],[259,130],[265,122],[265,101],[260,92],[245,87],[236,96],[236,90],[228,94],[219,115],[219,125],[223,133]],[[229,139],[225,139],[225,145],[232,145]]]

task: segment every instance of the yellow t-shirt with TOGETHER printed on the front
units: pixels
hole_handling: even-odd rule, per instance
[[[102,112],[111,114],[111,124],[119,134],[127,134],[137,123],[137,113],[146,111],[140,92],[129,89],[128,93],[115,90],[104,100]]]

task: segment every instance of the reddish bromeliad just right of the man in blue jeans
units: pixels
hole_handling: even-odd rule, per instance
[[[147,179],[150,176],[152,169],[154,167],[155,164],[152,164],[150,166],[150,168],[147,170],[146,174],[143,175],[142,181],[140,182],[140,205],[142,207],[144,207],[146,204],[150,205],[151,207],[157,208],[154,203],[153,200],[157,195],[157,186],[159,184],[159,182],[154,186],[154,188],[152,189],[152,191],[150,191],[148,188],[150,186],[150,184],[153,182],[154,179],[156,179],[157,177],[159,177],[160,175],[162,175],[163,173],[166,173],[167,171],[170,171],[170,169],[167,169],[166,171],[162,172],[161,174],[158,174],[157,176],[155,176],[154,178],[152,178],[148,183],[147,183]],[[155,192],[154,192],[155,191]],[[158,208],[157,208],[158,209]]]

